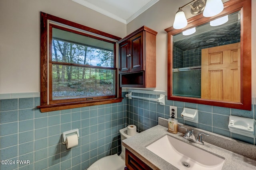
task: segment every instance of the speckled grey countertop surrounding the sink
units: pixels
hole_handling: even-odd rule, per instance
[[[210,133],[211,134],[211,133]],[[183,134],[178,132],[178,134],[172,134],[167,131],[166,127],[161,125],[156,125],[146,131],[143,131],[133,137],[125,139],[122,141],[124,147],[130,150],[134,155],[140,158],[143,162],[148,164],[154,170],[178,170],[172,164],[169,164],[164,159],[160,158],[150,150],[146,149],[148,145],[153,143],[154,141],[160,139],[165,135],[170,135],[176,139],[182,140],[189,145],[194,147],[201,148],[208,152],[212,152],[217,154],[218,156],[224,157],[225,162],[222,170],[236,170],[236,169],[244,169],[244,170],[255,170],[256,169],[256,160],[247,158],[240,154],[231,152],[229,150],[223,149],[221,147],[217,147],[210,143],[204,141],[205,145],[199,145],[197,143],[193,143],[184,139]],[[248,144],[250,145],[250,144]],[[255,146],[252,146],[255,147]],[[254,149],[253,149],[254,151]]]

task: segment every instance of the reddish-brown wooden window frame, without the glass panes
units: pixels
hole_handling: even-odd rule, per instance
[[[70,28],[76,28],[80,30],[84,30],[83,32],[76,31],[74,29],[69,29],[65,27],[60,27],[54,24],[50,24],[49,21],[57,22],[60,24],[64,24],[69,26]],[[52,49],[50,46],[52,45],[51,40],[52,36],[50,29],[58,28],[65,31],[71,31],[73,33],[78,33],[80,35],[84,35],[87,37],[99,39],[102,41],[106,41],[109,43],[113,43],[114,46],[114,67],[111,68],[112,70],[115,70],[115,95],[110,96],[93,96],[86,98],[72,98],[72,99],[61,99],[61,100],[52,100],[52,64],[56,64],[57,62],[51,61],[51,51]],[[88,32],[88,33],[87,33]],[[48,36],[49,35],[49,36]],[[95,36],[97,35],[97,36]],[[121,97],[121,88],[118,87],[118,66],[116,64],[116,42],[119,41],[121,38],[104,33],[102,31],[74,23],[72,21],[68,21],[56,16],[52,16],[50,14],[46,14],[44,12],[41,12],[41,27],[40,27],[40,37],[41,37],[41,53],[40,53],[40,106],[37,106],[40,108],[41,112],[47,112],[47,111],[56,111],[56,110],[62,110],[62,109],[71,109],[76,107],[85,107],[85,106],[94,106],[94,105],[100,105],[100,104],[111,104],[116,102],[122,102]],[[48,59],[48,51],[49,51],[49,59]],[[65,63],[70,66],[82,66],[82,64],[70,64]],[[101,66],[84,66],[84,67],[90,67],[90,68],[104,68]],[[93,98],[93,99],[91,99]]]

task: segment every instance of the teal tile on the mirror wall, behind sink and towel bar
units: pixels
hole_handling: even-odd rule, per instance
[[[159,95],[142,93],[133,93],[132,95],[155,99],[159,97]],[[167,97],[165,106],[149,100],[135,98],[127,99],[127,125],[134,124],[137,126],[139,131],[149,129],[150,127],[158,124],[158,117],[164,117],[166,119],[169,118],[170,106],[177,106],[178,122],[180,123],[256,145],[255,138],[231,133],[228,129],[229,115],[256,119],[256,113],[254,111],[256,109],[256,105],[252,105],[252,111],[246,111],[226,107],[172,101],[167,100]],[[184,107],[198,109],[198,123],[184,121],[180,116]]]

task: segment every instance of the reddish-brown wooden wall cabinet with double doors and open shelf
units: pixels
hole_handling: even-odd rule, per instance
[[[156,87],[156,34],[143,26],[118,41],[120,87]]]

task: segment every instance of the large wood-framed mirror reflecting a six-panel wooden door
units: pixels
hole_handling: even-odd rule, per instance
[[[251,1],[168,32],[168,100],[251,110]]]

